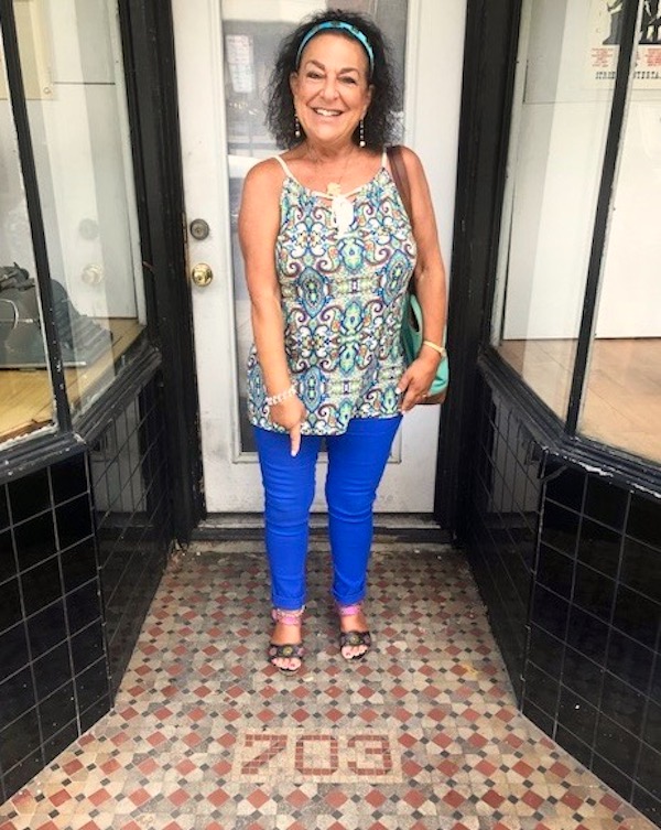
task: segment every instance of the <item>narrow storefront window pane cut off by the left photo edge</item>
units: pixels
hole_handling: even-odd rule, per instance
[[[0,441],[53,427],[47,371],[25,371],[17,355],[45,355],[42,311],[19,149],[0,39]]]

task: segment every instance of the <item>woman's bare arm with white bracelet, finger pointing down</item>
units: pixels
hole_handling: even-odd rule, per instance
[[[280,226],[282,171],[274,160],[260,162],[243,183],[239,211],[239,241],[246,263],[252,333],[267,395],[279,395],[291,385],[284,351],[284,319],[275,273],[275,239]],[[299,451],[305,407],[292,396],[271,407],[271,420],[284,427]]]

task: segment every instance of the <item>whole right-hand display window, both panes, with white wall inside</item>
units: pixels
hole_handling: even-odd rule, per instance
[[[655,7],[654,7],[655,8]],[[564,418],[615,87],[621,4],[524,4],[492,341]],[[579,431],[661,462],[661,28],[644,3]]]

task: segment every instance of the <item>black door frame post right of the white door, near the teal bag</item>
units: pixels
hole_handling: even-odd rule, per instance
[[[469,515],[478,358],[489,344],[522,0],[466,0],[464,82],[447,351],[452,381],[441,416],[434,515],[462,537]]]

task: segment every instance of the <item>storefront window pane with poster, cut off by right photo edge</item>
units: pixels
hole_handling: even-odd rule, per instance
[[[661,462],[660,35],[659,21],[648,25],[643,9],[578,422],[589,438],[655,462]]]

